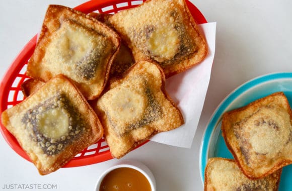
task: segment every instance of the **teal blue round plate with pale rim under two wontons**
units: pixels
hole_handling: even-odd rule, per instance
[[[290,105],[292,104],[292,73],[271,73],[254,78],[232,91],[217,107],[202,137],[200,148],[200,175],[202,182],[204,182],[204,171],[208,158],[233,158],[221,132],[221,121],[224,112],[243,107],[277,91],[283,91]],[[283,167],[279,190],[291,191],[291,180],[292,165],[288,165]]]

